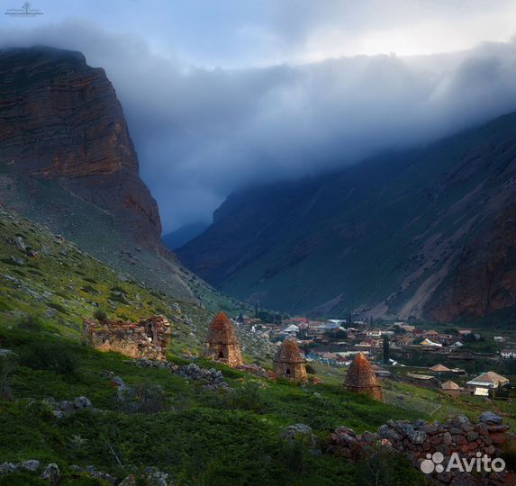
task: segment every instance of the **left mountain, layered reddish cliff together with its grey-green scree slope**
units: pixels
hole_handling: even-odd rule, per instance
[[[122,106],[79,52],[0,51],[0,202],[182,301],[196,282],[161,243]]]

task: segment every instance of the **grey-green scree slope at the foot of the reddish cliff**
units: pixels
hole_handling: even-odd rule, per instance
[[[203,302],[209,311],[238,314],[248,309],[177,265],[173,257],[159,257],[141,247],[112,214],[69,193],[56,181],[14,175],[0,166],[0,202],[65,236],[117,274],[131,275],[160,294],[183,302]]]

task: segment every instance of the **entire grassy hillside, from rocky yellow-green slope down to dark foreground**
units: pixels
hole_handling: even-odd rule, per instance
[[[327,455],[311,455],[305,447],[287,446],[280,438],[281,431],[301,422],[323,440],[339,425],[364,431],[376,429],[386,419],[430,419],[430,403],[439,397],[437,392],[425,391],[428,396],[422,407],[420,392],[406,385],[395,393],[413,394],[417,400],[392,401],[388,391],[392,403],[382,404],[344,392],[342,372],[317,365],[324,383],[305,387],[272,383],[216,365],[237,390],[237,399],[230,399],[167,371],[138,368],[123,356],[81,347],[79,324],[82,316],[96,309],[92,302],[113,316],[131,319],[164,312],[173,322],[169,349],[173,360],[181,359],[185,351],[200,349],[209,316],[193,304],[173,302],[134,282],[119,281],[112,270],[29,220],[3,210],[0,215],[0,347],[20,356],[9,383],[14,400],[0,399],[0,462],[32,458],[43,463],[55,461],[65,475],[62,485],[100,484],[74,479],[71,464],[93,464],[121,478],[155,465],[173,473],[177,485],[351,485],[360,481],[359,469]],[[37,249],[40,256],[27,257],[16,250],[9,243],[16,236]],[[25,264],[12,265],[11,257],[23,258]],[[131,303],[120,302],[118,292]],[[43,317],[48,311],[53,316]],[[40,331],[20,329],[19,322],[26,315],[41,318]],[[185,315],[192,320],[191,325]],[[59,374],[34,365],[27,359],[34,344],[41,348],[61,344],[61,349],[76,357],[76,372]],[[202,359],[197,362],[213,365]],[[155,414],[127,414],[115,400],[105,371],[121,376],[130,386],[161,385],[166,407]],[[249,383],[258,383],[259,388],[248,388],[252,386]],[[40,402],[79,395],[88,397],[101,411],[83,411],[57,420]],[[453,411],[462,410],[456,407]],[[74,436],[86,439],[86,444],[70,446]],[[397,484],[421,481],[421,474],[403,461],[395,468],[400,478]],[[14,486],[14,481],[14,476],[7,477],[0,479],[0,485]],[[17,481],[24,486],[39,483],[30,476],[20,476]]]

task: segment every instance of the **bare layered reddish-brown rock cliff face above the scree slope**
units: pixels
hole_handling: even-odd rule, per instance
[[[138,174],[122,106],[78,52],[0,51],[0,166],[53,179],[161,251],[158,206]]]

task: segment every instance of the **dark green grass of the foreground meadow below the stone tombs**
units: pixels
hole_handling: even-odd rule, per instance
[[[72,375],[44,365],[29,367],[22,361],[11,380],[15,400],[0,401],[2,460],[56,462],[66,481],[73,479],[71,464],[93,464],[121,478],[155,465],[173,473],[177,485],[351,485],[357,474],[352,465],[328,455],[312,455],[304,446],[301,452],[285,451],[282,430],[303,422],[323,439],[343,424],[362,431],[377,428],[386,417],[421,417],[415,411],[344,392],[338,385],[274,383],[224,365],[216,367],[236,392],[204,391],[201,383],[130,365],[124,356],[81,347],[76,340],[45,331],[35,335],[2,326],[0,340],[19,356],[37,342],[40,347],[66,346],[76,357]],[[206,365],[203,360],[198,363]],[[167,406],[154,414],[125,413],[115,400],[110,379],[104,377],[106,371],[121,376],[129,386],[160,385]],[[49,397],[61,401],[81,395],[98,411],[79,411],[57,420],[41,403]],[[80,437],[83,446],[70,447],[74,437]]]

